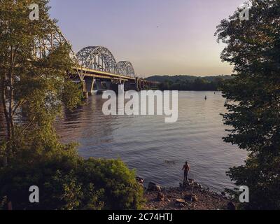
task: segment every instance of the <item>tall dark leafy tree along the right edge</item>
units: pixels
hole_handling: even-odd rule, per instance
[[[223,83],[228,99],[223,115],[230,134],[225,142],[248,151],[245,165],[228,176],[248,186],[246,209],[280,209],[280,1],[251,0],[249,20],[239,11],[217,27],[227,47],[221,59],[235,65],[235,78]]]

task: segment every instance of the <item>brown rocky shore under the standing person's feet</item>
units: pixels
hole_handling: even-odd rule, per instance
[[[144,183],[140,178],[137,181]],[[235,204],[224,193],[212,192],[194,180],[179,188],[162,188],[151,182],[144,197],[146,210],[235,210]]]

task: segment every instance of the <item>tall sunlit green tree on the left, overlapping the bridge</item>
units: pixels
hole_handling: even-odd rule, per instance
[[[39,6],[38,21],[29,20],[31,3]],[[47,0],[0,1],[0,95],[6,120],[6,139],[0,153],[3,165],[17,153],[21,144],[18,139],[22,140],[28,130],[42,139],[43,132],[52,138],[52,122],[62,104],[73,108],[81,99],[78,87],[66,78],[66,71],[73,65],[68,43],[35,57],[38,40],[57,29],[56,21],[49,18],[47,4]],[[24,123],[15,122],[19,116]]]

